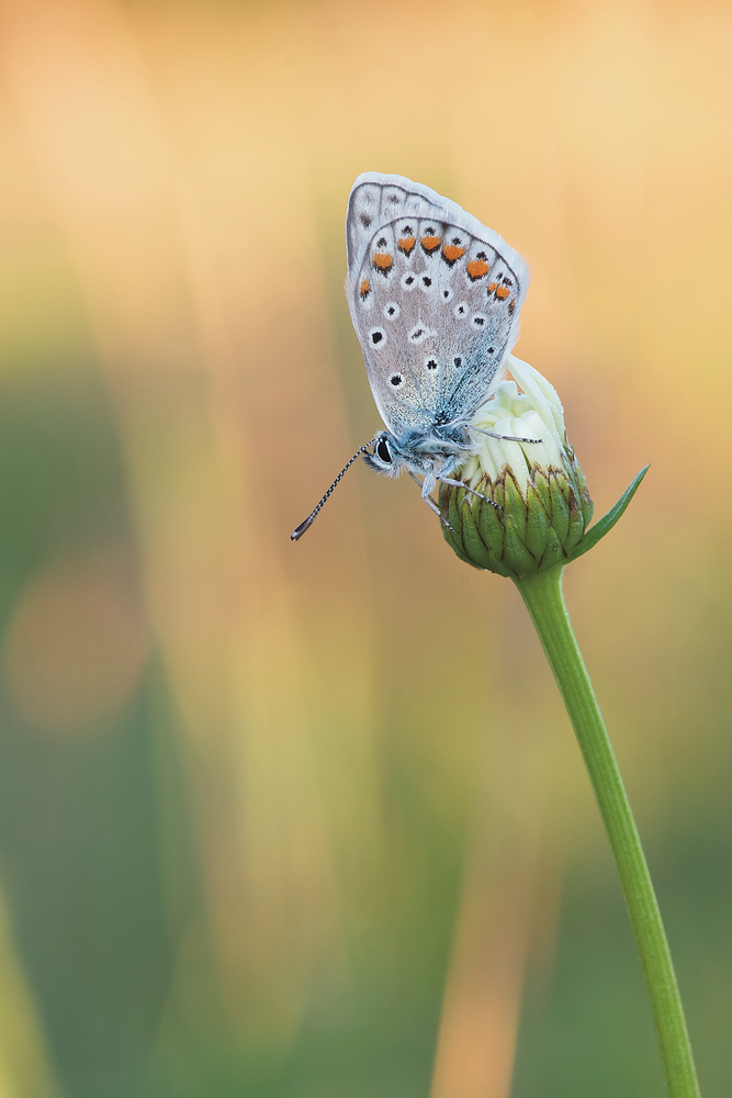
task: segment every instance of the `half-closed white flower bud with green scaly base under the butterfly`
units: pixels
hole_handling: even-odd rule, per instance
[[[555,390],[513,355],[507,366],[523,392],[502,382],[471,419],[475,452],[455,479],[473,491],[441,484],[439,498],[446,540],[461,560],[522,580],[589,548],[593,502]]]

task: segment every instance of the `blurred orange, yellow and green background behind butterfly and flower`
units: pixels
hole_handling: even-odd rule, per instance
[[[732,8],[7,0],[2,1098],[661,1096],[511,584],[379,426],[354,177],[528,259],[596,514],[575,628],[701,1085],[732,1076]]]

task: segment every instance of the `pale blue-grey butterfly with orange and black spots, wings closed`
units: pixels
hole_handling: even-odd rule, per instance
[[[358,177],[346,248],[346,296],[385,429],[357,450],[292,540],[359,457],[388,477],[406,470],[444,522],[431,494],[438,482],[464,486],[453,478],[476,449],[481,428],[470,421],[503,380],[529,282],[526,261],[497,233],[404,176]]]

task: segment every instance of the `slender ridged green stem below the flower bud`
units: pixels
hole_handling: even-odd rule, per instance
[[[562,594],[562,568],[517,581],[564,699],[618,865],[671,1098],[699,1098],[691,1044],[635,820]]]

